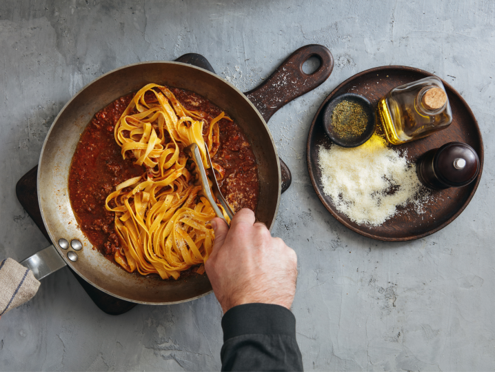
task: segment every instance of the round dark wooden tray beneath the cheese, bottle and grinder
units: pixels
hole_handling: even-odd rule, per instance
[[[310,172],[311,182],[316,194],[330,213],[344,226],[356,233],[373,239],[400,242],[425,237],[447,226],[464,211],[471,201],[481,179],[483,171],[483,139],[473,112],[467,106],[461,95],[443,81],[449,97],[452,115],[452,124],[440,132],[429,137],[418,139],[407,144],[397,146],[407,150],[407,158],[416,161],[427,150],[438,148],[451,141],[460,141],[472,146],[480,158],[480,172],[471,184],[461,188],[432,191],[430,204],[425,205],[425,213],[418,214],[411,205],[398,208],[399,213],[388,219],[381,226],[358,225],[336,210],[332,198],[323,193],[321,172],[318,166],[319,147],[330,148],[332,141],[325,135],[322,125],[322,111],[327,102],[343,93],[352,92],[363,95],[376,108],[378,99],[387,94],[392,88],[411,81],[433,76],[430,72],[418,68],[405,66],[383,66],[359,72],[350,77],[323,101],[316,112],[307,136],[307,169]],[[376,130],[383,133],[381,122],[377,118]]]

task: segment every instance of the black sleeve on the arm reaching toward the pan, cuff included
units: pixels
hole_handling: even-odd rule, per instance
[[[222,371],[303,371],[296,318],[283,306],[245,304],[223,315]]]

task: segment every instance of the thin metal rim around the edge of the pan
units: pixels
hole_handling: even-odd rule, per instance
[[[131,64],[128,64],[128,65],[125,65],[125,66],[121,66],[119,68],[115,68],[114,70],[111,70],[109,72],[105,72],[105,74],[100,75],[96,79],[90,81],[90,83],[88,83],[85,86],[83,86],[83,88],[81,88],[75,95],[73,95],[67,101],[67,103],[65,103],[65,105],[63,106],[63,108],[61,108],[61,110],[59,111],[59,113],[57,114],[57,116],[55,117],[55,119],[53,120],[52,125],[50,126],[50,129],[48,130],[48,133],[46,134],[46,137],[45,137],[45,139],[43,141],[43,146],[41,147],[41,153],[39,155],[38,164],[41,164],[41,162],[43,161],[43,154],[45,153],[45,148],[46,148],[46,145],[48,143],[48,139],[50,138],[50,134],[52,133],[52,130],[53,130],[55,124],[57,124],[57,121],[59,120],[59,117],[61,117],[61,115],[65,111],[65,109],[68,108],[68,106],[70,106],[70,104],[72,103],[72,101],[74,101],[74,99],[76,99],[76,97],[78,97],[81,94],[81,92],[83,92],[84,90],[86,90],[89,86],[91,86],[92,84],[96,83],[100,79],[103,79],[103,78],[107,77],[108,75],[111,75],[114,72],[117,72],[119,70],[123,70],[125,68],[130,68],[130,67],[134,67],[134,66],[140,66],[140,65],[146,65],[146,64],[155,64],[155,63],[156,64],[171,64],[171,65],[185,66],[187,68],[201,70],[201,72],[205,72],[205,73],[207,73],[209,75],[212,75],[212,77],[215,77],[216,79],[218,79],[219,81],[221,81],[221,83],[226,84],[227,86],[229,86],[230,88],[232,88],[236,92],[238,92],[241,95],[241,97],[244,97],[245,101],[247,101],[247,104],[249,104],[251,106],[251,108],[254,110],[254,112],[256,113],[256,115],[258,115],[259,119],[261,120],[261,122],[265,126],[266,132],[267,132],[268,136],[270,137],[270,141],[272,142],[272,146],[274,148],[274,153],[275,153],[275,159],[276,159],[276,167],[278,169],[278,179],[279,179],[279,182],[278,182],[278,193],[277,193],[277,200],[276,200],[276,208],[275,208],[275,211],[274,211],[274,217],[273,217],[272,222],[270,223],[270,226],[269,226],[269,230],[272,231],[272,228],[274,226],[274,223],[275,223],[275,220],[276,220],[276,216],[279,213],[279,207],[280,207],[280,199],[281,199],[281,170],[280,170],[279,153],[278,153],[278,151],[276,149],[275,141],[273,139],[272,133],[270,132],[270,128],[268,128],[268,126],[267,126],[267,124],[265,122],[265,119],[263,119],[263,117],[261,116],[259,110],[254,106],[254,104],[252,104],[252,102],[250,101],[250,99],[248,99],[245,96],[245,94],[243,92],[241,92],[241,90],[239,90],[238,88],[236,88],[236,86],[234,86],[233,84],[231,84],[229,81],[226,81],[225,79],[223,79],[219,75],[216,75],[216,74],[214,74],[214,73],[212,73],[212,72],[210,72],[208,70],[205,70],[204,68],[200,68],[200,67],[197,67],[197,66],[192,66],[192,65],[190,65],[188,63],[182,63],[182,62],[176,62],[176,61],[160,61],[160,60],[156,60],[156,61],[143,61],[143,62],[131,63]],[[58,246],[58,244],[56,242],[56,239],[55,239],[52,231],[50,230],[50,228],[48,226],[48,223],[46,222],[45,213],[43,211],[43,205],[41,203],[41,197],[39,197],[39,195],[41,195],[41,193],[40,193],[41,168],[42,167],[39,166],[38,167],[38,172],[37,172],[37,193],[38,193],[38,204],[39,204],[39,209],[41,211],[41,218],[43,219],[43,224],[44,224],[44,226],[46,228],[46,231],[48,231],[48,235],[50,235],[50,239],[52,241],[52,244],[55,246],[55,248],[57,248],[57,251],[59,252],[59,255],[61,255],[61,257],[64,260],[65,264],[67,264],[67,266],[69,266],[70,268],[72,268],[72,270],[75,271],[77,273],[77,275],[79,275],[79,277],[81,277],[83,280],[85,280],[86,282],[88,282],[89,284],[91,284],[92,286],[94,286],[95,288],[98,288],[100,291],[102,291],[104,293],[107,293],[108,295],[111,295],[113,297],[117,297],[117,298],[119,298],[121,300],[125,300],[125,301],[128,301],[128,302],[133,302],[133,303],[136,303],[136,304],[145,304],[145,305],[181,304],[183,302],[189,302],[189,301],[192,301],[192,300],[199,299],[199,298],[204,297],[206,295],[209,295],[210,293],[213,292],[213,290],[210,290],[210,291],[208,291],[206,293],[202,293],[201,295],[197,295],[197,296],[194,296],[194,297],[190,297],[188,299],[185,299],[185,300],[174,301],[174,302],[144,302],[144,301],[139,301],[139,300],[133,300],[133,299],[130,299],[128,297],[123,297],[121,295],[116,295],[115,293],[112,293],[112,292],[106,290],[105,288],[102,288],[101,286],[95,284],[94,282],[90,281],[87,277],[85,277],[85,275],[81,274],[79,272],[79,270],[77,270],[77,268],[74,266],[74,264],[72,263],[72,261],[68,260],[68,258],[65,257],[65,255],[63,255],[63,252],[61,251],[61,248]]]

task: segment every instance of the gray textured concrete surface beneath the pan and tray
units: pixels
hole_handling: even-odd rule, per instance
[[[304,366],[334,371],[487,371],[495,366],[495,3],[471,1],[15,1],[0,6],[0,257],[48,242],[15,196],[57,112],[103,72],[199,52],[242,90],[296,48],[335,58],[323,86],[276,113],[270,129],[294,182],[274,235],[299,257],[293,311]],[[316,197],[305,142],[341,81],[388,64],[423,68],[466,99],[485,168],[460,217],[414,242],[383,243],[341,226]],[[118,317],[65,268],[0,320],[2,371],[218,370],[213,295],[137,306]]]

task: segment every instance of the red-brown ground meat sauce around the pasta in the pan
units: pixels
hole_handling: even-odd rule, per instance
[[[222,112],[194,92],[170,90],[188,110],[202,110],[212,117]],[[114,213],[106,210],[105,199],[115,186],[145,171],[132,164],[133,159],[122,159],[121,148],[114,139],[114,126],[132,97],[133,94],[121,97],[94,115],[81,135],[69,173],[70,202],[81,231],[110,260],[120,242],[114,233]],[[235,211],[256,211],[259,177],[250,144],[234,122],[221,119],[219,128],[221,144],[213,161],[225,168],[225,177],[219,182],[221,191]],[[208,126],[203,130],[205,133]]]

